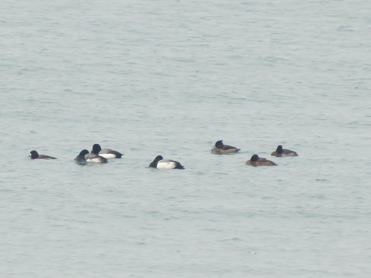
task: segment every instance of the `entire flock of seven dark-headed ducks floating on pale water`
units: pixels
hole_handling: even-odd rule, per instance
[[[211,149],[212,152],[219,155],[235,153],[241,149],[238,149],[233,146],[224,145],[223,140],[219,140],[215,143],[214,148]],[[105,163],[108,158],[121,158],[122,153],[117,152],[116,150],[111,149],[102,149],[99,144],[94,144],[92,151],[89,152],[87,149],[82,150],[75,160],[77,162],[96,162],[96,163]],[[272,152],[271,156],[298,156],[298,153],[283,149],[281,145]],[[57,159],[53,156],[48,155],[39,155],[36,150],[32,150],[28,156],[31,159]],[[249,160],[246,161],[247,165],[254,166],[274,166],[277,165],[271,160],[266,158],[260,158],[258,155],[253,155]],[[156,158],[150,163],[148,167],[157,168],[157,169],[184,169],[184,166],[181,165],[178,161],[171,159],[164,159],[161,155],[156,156]]]

